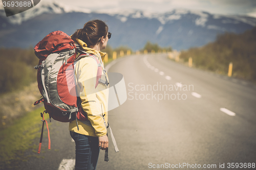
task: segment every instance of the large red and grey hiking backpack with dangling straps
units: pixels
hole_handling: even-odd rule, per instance
[[[40,153],[45,122],[48,129],[48,149],[50,149],[49,128],[44,113],[49,113],[50,120],[52,117],[59,122],[71,122],[74,119],[77,121],[77,118],[84,121],[88,120],[83,109],[77,106],[79,103],[77,102],[78,95],[74,95],[76,94],[74,62],[82,57],[92,57],[96,60],[98,71],[95,88],[99,83],[102,67],[99,60],[92,54],[81,53],[76,59],[77,47],[70,36],[62,31],[48,34],[35,45],[34,50],[35,55],[39,58],[39,63],[34,68],[37,69],[38,89],[42,95],[42,98],[36,101],[34,105],[43,102],[46,109],[41,113],[43,123],[38,148],[38,153]]]

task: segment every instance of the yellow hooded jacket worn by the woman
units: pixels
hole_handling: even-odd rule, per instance
[[[99,61],[101,61],[100,57],[102,60],[104,59],[105,53],[87,47],[87,44],[80,39],[76,39],[76,43],[82,47],[81,50],[86,53],[94,54]],[[84,57],[77,61],[75,76],[78,84],[80,84],[82,88],[80,90],[81,107],[83,111],[86,112],[92,126],[88,126],[77,120],[78,131],[76,120],[73,120],[69,124],[70,131],[94,137],[106,135],[107,131],[102,117],[103,115],[105,122],[108,123],[109,86],[99,83],[95,89],[97,70],[97,62],[91,57]],[[103,68],[101,79],[105,80]]]

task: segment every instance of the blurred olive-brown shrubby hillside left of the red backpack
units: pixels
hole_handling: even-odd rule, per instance
[[[0,48],[0,94],[20,89],[36,81],[38,58],[34,49]]]

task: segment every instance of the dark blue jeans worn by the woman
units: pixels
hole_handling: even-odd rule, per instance
[[[99,157],[99,138],[82,135],[70,131],[71,137],[76,143],[76,165],[75,170],[96,169]]]

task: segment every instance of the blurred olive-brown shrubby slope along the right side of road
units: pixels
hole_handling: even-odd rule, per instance
[[[243,34],[225,33],[215,42],[202,47],[182,51],[180,58],[185,62],[193,58],[199,68],[227,74],[228,65],[233,63],[232,76],[256,82],[256,27]]]

